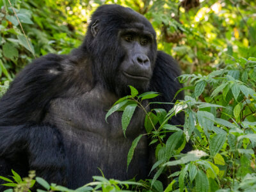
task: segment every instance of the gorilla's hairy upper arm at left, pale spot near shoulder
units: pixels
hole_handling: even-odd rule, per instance
[[[0,100],[0,126],[38,122],[49,101],[67,87],[61,65],[64,56],[48,54],[18,74]]]

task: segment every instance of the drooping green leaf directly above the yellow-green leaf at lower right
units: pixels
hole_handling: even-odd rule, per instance
[[[210,141],[210,154],[214,157],[220,151],[226,141],[226,134],[216,134]]]

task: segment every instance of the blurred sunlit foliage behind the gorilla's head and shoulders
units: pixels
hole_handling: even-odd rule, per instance
[[[255,1],[10,0],[10,3],[0,1],[1,86],[33,58],[49,52],[67,54],[78,47],[90,15],[106,3],[129,6],[145,15],[157,31],[158,48],[172,54],[186,74],[208,74],[223,67],[230,56],[256,55]]]

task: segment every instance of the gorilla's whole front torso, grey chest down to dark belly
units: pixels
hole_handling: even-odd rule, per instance
[[[137,175],[138,179],[145,179],[148,174],[146,136],[138,143],[128,172],[126,170],[132,141],[145,133],[143,111],[136,109],[125,138],[121,124],[122,112],[113,113],[108,122],[105,120],[108,109],[117,98],[108,92],[96,93],[53,100],[44,120],[56,125],[63,135],[68,175],[81,176],[79,180],[70,180],[77,183],[68,185],[81,186],[92,181],[93,175],[100,175],[98,168],[107,178],[127,180]]]

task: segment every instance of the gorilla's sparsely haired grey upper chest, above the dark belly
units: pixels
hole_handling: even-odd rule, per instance
[[[70,136],[97,134],[103,138],[124,138],[122,112],[113,113],[108,122],[105,120],[108,109],[117,99],[115,95],[97,89],[72,98],[58,98],[52,100],[44,121]],[[136,109],[125,135],[136,138],[143,132],[144,118],[143,110]]]

